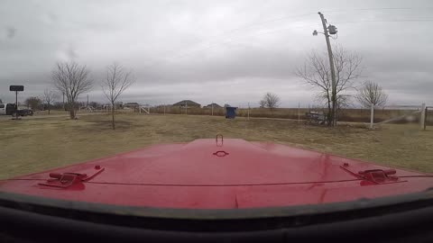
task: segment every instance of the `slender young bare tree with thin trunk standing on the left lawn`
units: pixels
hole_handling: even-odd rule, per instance
[[[134,84],[132,71],[126,71],[124,67],[114,63],[107,67],[106,79],[102,81],[102,91],[111,103],[112,127],[115,130],[115,101],[124,93],[124,90]]]

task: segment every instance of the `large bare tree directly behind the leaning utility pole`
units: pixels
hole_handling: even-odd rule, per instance
[[[341,46],[334,47],[333,58],[336,69],[336,107],[341,107],[338,102],[347,101],[347,99],[342,99],[346,97],[345,91],[354,88],[355,80],[361,76],[362,58]],[[313,51],[304,66],[295,70],[295,74],[306,84],[318,88],[318,98],[327,103],[327,124],[331,125],[334,111],[332,108],[332,78],[327,53]]]

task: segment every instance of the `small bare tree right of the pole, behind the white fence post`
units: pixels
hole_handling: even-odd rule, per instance
[[[365,81],[358,89],[356,99],[366,108],[370,108],[372,103],[374,106],[383,106],[388,100],[388,94],[385,94],[380,85],[372,81]]]

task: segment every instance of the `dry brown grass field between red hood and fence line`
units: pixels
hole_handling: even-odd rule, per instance
[[[78,117],[76,121],[66,116],[0,121],[0,179],[152,144],[215,138],[217,133],[433,172],[433,129],[421,131],[415,124],[367,130],[354,123],[329,129],[297,121],[129,113],[117,115],[117,130],[111,130],[108,115]]]

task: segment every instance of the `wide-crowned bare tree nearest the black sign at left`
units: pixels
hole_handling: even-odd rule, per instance
[[[53,85],[66,95],[70,119],[76,118],[75,103],[78,95],[89,91],[93,80],[88,77],[89,70],[76,62],[59,62],[51,72]]]

